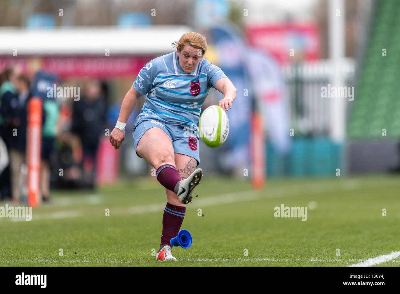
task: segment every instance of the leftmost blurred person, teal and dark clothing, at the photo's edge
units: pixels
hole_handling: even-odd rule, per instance
[[[13,67],[6,68],[0,74],[0,136],[6,144],[8,153],[12,138],[12,107],[18,104],[15,88],[17,75],[18,72]],[[0,175],[0,193],[1,198],[11,198],[10,165]]]

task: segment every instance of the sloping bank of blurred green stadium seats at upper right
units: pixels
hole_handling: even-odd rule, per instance
[[[379,0],[349,113],[348,137],[400,137],[400,5]],[[386,56],[382,56],[382,49]]]

